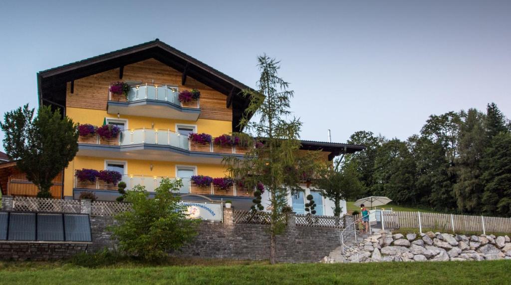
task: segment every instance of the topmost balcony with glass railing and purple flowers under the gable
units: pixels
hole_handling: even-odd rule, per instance
[[[197,121],[200,99],[180,102],[176,86],[146,83],[131,86],[127,96],[108,92],[108,113]]]

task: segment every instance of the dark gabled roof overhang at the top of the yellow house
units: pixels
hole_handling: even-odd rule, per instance
[[[39,104],[64,108],[67,82],[150,58],[183,73],[184,81],[185,77],[190,76],[225,94],[227,96],[226,107],[233,107],[233,130],[239,131],[239,122],[249,103],[248,99],[242,97],[240,93],[243,89],[250,89],[250,87],[159,40],[37,73]]]

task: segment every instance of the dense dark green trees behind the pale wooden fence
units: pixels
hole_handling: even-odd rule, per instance
[[[406,140],[358,131],[349,144],[365,151],[346,156],[364,195],[436,210],[511,215],[511,124],[495,103],[431,115]]]

